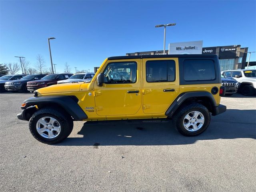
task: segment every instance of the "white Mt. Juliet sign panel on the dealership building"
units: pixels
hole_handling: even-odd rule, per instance
[[[169,54],[202,54],[203,41],[169,43]]]

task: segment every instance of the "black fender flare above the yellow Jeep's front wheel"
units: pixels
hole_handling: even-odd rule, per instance
[[[30,106],[43,106],[44,104],[55,104],[61,106],[75,121],[80,121],[87,119],[88,116],[78,105],[78,98],[76,96],[40,96],[40,97],[31,97],[27,100],[24,100],[23,103],[26,103],[24,107],[21,107],[23,110],[29,109]],[[25,114],[25,112],[23,112]],[[22,119],[27,120],[27,119]]]

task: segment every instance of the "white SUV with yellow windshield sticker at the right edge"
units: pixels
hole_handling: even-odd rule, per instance
[[[256,70],[241,69],[222,71],[222,75],[232,77],[240,83],[238,89],[243,95],[251,96],[255,94],[256,89]]]

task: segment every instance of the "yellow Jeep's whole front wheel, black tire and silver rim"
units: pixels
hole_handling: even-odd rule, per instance
[[[29,129],[38,141],[55,144],[70,135],[73,129],[73,120],[68,114],[53,108],[42,108],[31,116]]]

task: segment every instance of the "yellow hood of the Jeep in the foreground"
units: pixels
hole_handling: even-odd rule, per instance
[[[38,94],[49,94],[49,93],[63,93],[63,92],[76,92],[80,91],[80,86],[82,83],[72,83],[72,84],[57,84],[37,90]]]

